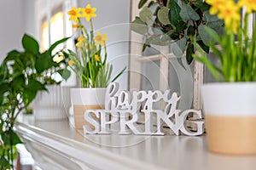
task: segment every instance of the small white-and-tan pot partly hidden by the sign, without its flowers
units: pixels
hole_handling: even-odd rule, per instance
[[[107,88],[71,88],[75,128],[83,128],[89,122],[84,120],[84,111],[104,109]]]

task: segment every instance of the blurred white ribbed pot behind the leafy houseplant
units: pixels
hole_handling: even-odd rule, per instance
[[[68,116],[70,102],[70,88],[60,85],[47,85],[49,92],[42,91],[32,102],[35,120],[62,120]]]

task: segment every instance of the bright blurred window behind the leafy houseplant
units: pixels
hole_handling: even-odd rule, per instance
[[[72,22],[68,20],[67,16],[67,11],[72,6],[77,6],[76,0],[37,0],[35,3],[37,39],[39,39],[42,52],[64,37],[71,37],[65,43],[64,48],[74,49]],[[63,44],[56,47],[53,53],[61,48],[63,48]],[[75,76],[72,74],[68,81],[62,82],[61,85],[75,86]]]

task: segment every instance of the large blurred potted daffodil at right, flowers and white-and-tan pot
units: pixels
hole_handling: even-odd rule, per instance
[[[211,5],[210,13],[224,20],[221,34],[205,26],[218,65],[199,45],[199,54],[194,55],[218,81],[201,88],[208,148],[222,154],[256,154],[256,1],[206,2]]]

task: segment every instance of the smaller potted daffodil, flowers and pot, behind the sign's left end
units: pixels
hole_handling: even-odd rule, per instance
[[[71,89],[76,128],[88,124],[84,120],[84,111],[103,108],[108,83],[115,81],[125,71],[124,68],[111,79],[113,65],[107,63],[108,37],[100,31],[94,31],[92,18],[96,17],[95,12],[96,8],[91,8],[90,4],[85,8],[72,7],[67,12],[79,35],[75,44],[77,52],[69,50],[66,53],[71,69],[81,82],[81,88]],[[84,26],[84,21],[89,22],[90,28]]]

